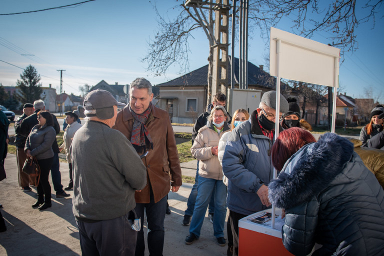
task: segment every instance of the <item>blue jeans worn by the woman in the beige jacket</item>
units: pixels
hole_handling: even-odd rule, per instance
[[[222,180],[204,178],[201,176],[198,177],[196,204],[194,205],[193,218],[189,227],[189,232],[193,233],[197,237],[200,236],[206,207],[208,206],[209,199],[213,191],[215,191],[213,235],[216,238],[224,237],[223,230],[226,215],[226,186]]]

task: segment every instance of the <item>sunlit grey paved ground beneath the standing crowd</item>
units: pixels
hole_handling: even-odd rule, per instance
[[[71,197],[55,198],[51,183],[52,207],[42,212],[33,209],[31,205],[36,200],[36,189],[21,191],[17,182],[16,156],[8,154],[4,167],[7,178],[0,181],[0,203],[3,205],[0,210],[7,230],[0,233],[0,255],[81,255]],[[65,162],[60,162],[60,171],[61,183],[66,186],[69,174]],[[196,160],[182,163],[182,174],[194,177]],[[212,223],[207,217],[200,238],[191,245],[184,243],[189,226],[181,225],[181,220],[191,187],[192,184],[183,183],[177,193],[169,192],[168,203],[172,213],[165,216],[163,255],[226,255],[227,246],[221,247],[216,243]],[[146,226],[144,228],[146,230]],[[226,223],[224,234],[226,238]],[[145,255],[148,254],[146,249]]]

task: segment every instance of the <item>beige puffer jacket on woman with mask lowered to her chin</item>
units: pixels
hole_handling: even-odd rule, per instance
[[[212,122],[209,122],[198,130],[190,152],[196,159],[200,160],[198,164],[198,175],[201,177],[222,180],[221,164],[218,161],[217,155],[212,154],[211,148],[218,146],[220,137],[228,130],[229,127],[226,122],[220,135],[214,130]]]

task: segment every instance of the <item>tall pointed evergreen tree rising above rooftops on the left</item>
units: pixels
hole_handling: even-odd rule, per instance
[[[20,74],[20,80],[17,79],[16,86],[19,91],[14,93],[15,98],[21,102],[33,102],[40,99],[42,93],[40,75],[37,73],[36,68],[32,65],[28,65],[22,74]]]

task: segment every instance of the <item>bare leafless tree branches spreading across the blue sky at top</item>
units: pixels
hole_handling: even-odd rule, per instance
[[[249,31],[251,34],[259,28],[260,36],[268,41],[269,27],[288,17],[292,20],[291,32],[301,36],[310,38],[316,31],[329,33],[329,45],[339,47],[342,56],[358,48],[355,30],[359,24],[371,22],[374,27],[377,15],[380,13],[379,18],[383,17],[383,1],[249,0]],[[188,39],[201,25],[183,4],[178,5],[180,13],[171,20],[161,17],[156,6],[153,7],[159,19],[158,30],[154,38],[150,38],[148,53],[142,61],[148,63],[147,70],[155,75],[164,74],[173,64],[178,64],[179,72],[183,73],[189,67]]]

